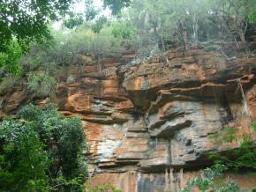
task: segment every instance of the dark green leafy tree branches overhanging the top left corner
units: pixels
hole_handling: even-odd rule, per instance
[[[72,28],[83,23],[84,19],[93,19],[98,11],[92,0],[86,0],[85,13],[76,13],[72,4],[81,0],[6,0],[0,1],[0,69],[18,74],[19,58],[26,54],[33,41],[46,43],[51,39],[49,22],[64,18],[64,25]],[[104,5],[120,11],[129,1],[104,1]],[[14,60],[12,59],[14,55]]]

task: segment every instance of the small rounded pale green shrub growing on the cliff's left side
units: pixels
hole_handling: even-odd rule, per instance
[[[46,72],[30,72],[27,79],[27,88],[38,97],[53,97],[56,93],[56,79]]]

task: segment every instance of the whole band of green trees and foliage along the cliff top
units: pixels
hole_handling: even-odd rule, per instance
[[[78,11],[75,3],[84,4],[84,11]],[[26,55],[31,42],[50,46],[42,50],[49,55],[44,60],[56,64],[77,63],[80,53],[120,55],[122,46],[128,47],[128,39],[140,58],[163,55],[174,46],[208,47],[208,41],[246,41],[247,28],[255,24],[255,6],[254,0],[104,0],[103,7],[112,11],[111,18],[102,16],[93,0],[7,0],[0,3],[0,68],[19,73],[19,58]],[[75,30],[62,28],[63,33],[56,37],[48,25],[61,19],[63,26]],[[91,34],[84,33],[74,41],[81,31]],[[49,41],[52,36],[56,38],[54,46]],[[63,39],[58,41],[60,36]]]

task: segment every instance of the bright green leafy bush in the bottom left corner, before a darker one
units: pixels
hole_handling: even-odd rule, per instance
[[[49,157],[34,129],[26,122],[5,120],[0,125],[0,142],[0,189],[46,191]]]

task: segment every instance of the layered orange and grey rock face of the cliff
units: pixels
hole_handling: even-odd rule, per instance
[[[87,134],[88,170],[93,184],[124,192],[169,191],[225,151],[211,135],[225,127],[250,133],[256,119],[255,57],[227,58],[203,50],[169,50],[160,58],[129,63],[134,55],[72,66],[57,75],[56,103],[67,116],[79,115]],[[32,100],[22,86],[0,99],[0,114]],[[37,100],[37,103],[43,103]],[[232,144],[237,147],[237,144]],[[256,188],[255,175],[231,174]]]

